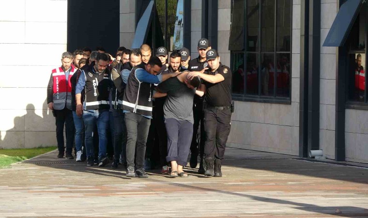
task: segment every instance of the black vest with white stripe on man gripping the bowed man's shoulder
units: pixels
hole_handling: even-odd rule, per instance
[[[141,63],[130,71],[125,87],[122,109],[143,116],[152,116],[151,84],[141,82],[136,77],[136,71],[138,69],[145,70],[144,66],[145,64]]]

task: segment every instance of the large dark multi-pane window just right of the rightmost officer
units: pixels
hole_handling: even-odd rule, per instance
[[[239,99],[243,93],[245,101],[277,102],[276,99],[290,103],[292,1],[243,0],[243,3],[246,12],[243,40],[247,43],[241,52],[232,45],[234,97]],[[241,18],[238,4],[239,0],[232,1],[232,20]],[[246,74],[240,77],[244,69]]]

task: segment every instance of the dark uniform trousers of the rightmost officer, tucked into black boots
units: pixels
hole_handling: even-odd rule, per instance
[[[206,142],[204,154],[215,159],[224,159],[226,141],[230,134],[231,109],[205,109],[204,129]]]

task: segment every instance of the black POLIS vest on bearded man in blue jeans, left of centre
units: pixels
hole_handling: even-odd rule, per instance
[[[95,73],[92,69],[94,64],[88,70],[84,71],[86,78],[85,98],[86,110],[109,109],[108,89],[110,85],[110,71],[106,68],[105,73]]]

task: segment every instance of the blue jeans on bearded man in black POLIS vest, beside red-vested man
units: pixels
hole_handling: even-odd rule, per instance
[[[86,134],[85,144],[87,156],[94,156],[93,130],[97,125],[98,157],[105,157],[107,147],[108,110],[94,110],[93,112],[83,110],[83,121]]]

